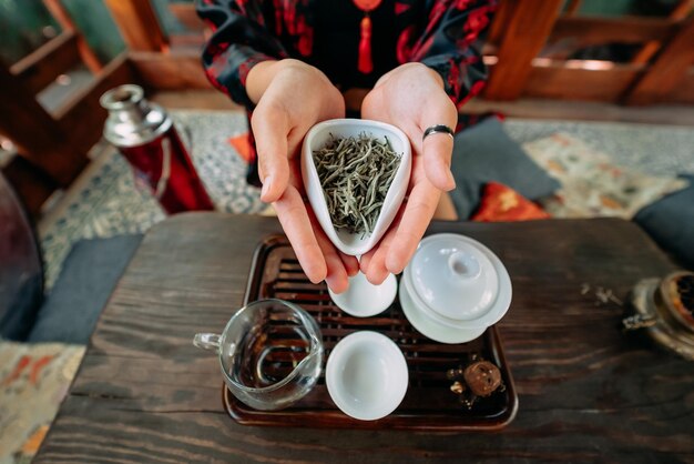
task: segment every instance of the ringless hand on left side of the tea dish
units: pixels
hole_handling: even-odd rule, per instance
[[[325,280],[340,293],[359,263],[337,251],[305,203],[299,150],[313,125],[345,117],[343,95],[318,69],[292,59],[253,67],[246,91],[256,103],[251,125],[263,182],[261,199],[275,206],[308,279],[314,283]]]

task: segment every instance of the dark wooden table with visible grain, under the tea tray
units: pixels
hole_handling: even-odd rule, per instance
[[[520,410],[497,433],[248,427],[191,343],[244,296],[274,219],[183,214],[147,234],[105,309],[37,463],[694,462],[694,364],[620,331],[639,279],[674,265],[630,222],[435,223],[488,244],[513,281],[500,324]],[[593,290],[581,293],[582,284]]]

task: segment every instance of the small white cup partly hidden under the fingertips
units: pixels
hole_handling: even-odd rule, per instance
[[[398,294],[398,281],[392,274],[388,274],[384,283],[374,285],[366,280],[361,272],[349,278],[349,290],[343,293],[333,293],[328,289],[330,297],[337,306],[349,315],[356,317],[370,317],[386,311]]]

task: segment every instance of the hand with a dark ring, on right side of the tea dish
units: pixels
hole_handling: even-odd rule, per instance
[[[443,91],[441,77],[421,63],[402,64],[384,74],[361,103],[361,117],[387,122],[407,134],[412,147],[408,200],[381,241],[361,258],[369,282],[379,284],[388,273],[402,272],[425,234],[441,192],[456,188],[450,172],[453,140],[427,128],[458,122],[458,110]]]

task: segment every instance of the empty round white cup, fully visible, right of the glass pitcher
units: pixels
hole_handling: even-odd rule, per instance
[[[409,374],[402,352],[377,332],[355,332],[328,356],[326,384],[345,414],[375,421],[394,412],[407,392]]]

